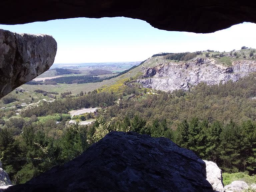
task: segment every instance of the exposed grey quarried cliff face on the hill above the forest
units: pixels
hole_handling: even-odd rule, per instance
[[[215,59],[195,58],[184,63],[159,62],[155,67],[144,69],[143,78],[137,82],[144,87],[163,91],[188,90],[200,82],[213,85],[229,80],[237,81],[251,72],[256,72],[255,60],[234,61],[232,66],[224,67]]]

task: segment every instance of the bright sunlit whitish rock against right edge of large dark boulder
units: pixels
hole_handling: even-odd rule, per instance
[[[224,192],[224,185],[222,182],[222,171],[216,163],[212,161],[203,160],[206,164],[206,176],[207,181],[212,185],[212,188],[216,192]]]

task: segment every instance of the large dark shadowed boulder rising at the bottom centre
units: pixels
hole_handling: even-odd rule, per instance
[[[167,138],[112,131],[82,155],[9,191],[213,191],[205,163]]]

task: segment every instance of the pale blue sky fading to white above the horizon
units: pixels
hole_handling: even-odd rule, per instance
[[[62,19],[0,28],[52,35],[58,43],[55,63],[142,61],[159,52],[256,48],[253,23],[210,34],[164,31],[145,21],[124,17]]]

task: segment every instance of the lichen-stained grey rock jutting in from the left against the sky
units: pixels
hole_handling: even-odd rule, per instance
[[[52,36],[0,29],[0,98],[47,71],[56,51]]]

